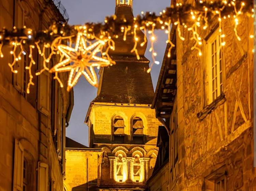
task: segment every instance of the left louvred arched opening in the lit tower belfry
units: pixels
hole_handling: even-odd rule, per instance
[[[125,142],[125,122],[120,116],[115,117],[113,121],[113,141],[115,143]]]

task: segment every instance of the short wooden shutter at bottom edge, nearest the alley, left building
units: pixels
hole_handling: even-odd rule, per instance
[[[38,162],[38,191],[48,190],[48,166],[45,163]]]

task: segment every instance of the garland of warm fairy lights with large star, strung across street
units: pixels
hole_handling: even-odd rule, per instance
[[[24,47],[29,47],[28,57],[29,64],[25,67],[29,71],[29,82],[27,85],[27,93],[33,83],[32,67],[35,65],[33,52],[37,51],[42,61],[42,69],[36,73],[40,75],[42,72],[54,73],[60,86],[63,82],[59,77],[60,72],[69,72],[68,88],[69,91],[77,80],[84,76],[88,82],[97,87],[97,75],[95,67],[106,67],[115,64],[111,59],[109,50],[115,50],[115,39],[122,37],[126,41],[128,35],[134,37],[134,46],[131,53],[138,60],[141,55],[138,53],[138,46],[145,46],[147,36],[150,41],[149,51],[152,53],[153,62],[147,72],[150,72],[153,64],[159,64],[156,60],[157,53],[154,49],[156,41],[155,30],[165,30],[167,34],[167,44],[170,44],[168,57],[171,57],[171,49],[175,47],[171,41],[172,24],[176,27],[177,35],[180,40],[184,41],[182,30],[191,31],[191,38],[194,45],[191,50],[196,50],[198,56],[202,56],[202,37],[200,31],[209,27],[209,21],[217,19],[219,26],[222,26],[224,19],[230,19],[234,24],[233,32],[238,41],[241,41],[238,32],[240,16],[253,17],[253,1],[251,0],[221,0],[205,2],[200,0],[193,4],[177,3],[168,7],[156,15],[151,12],[142,12],[141,15],[134,17],[132,21],[116,19],[116,16],[106,17],[104,23],[86,23],[83,26],[69,26],[65,24],[53,24],[48,30],[35,31],[25,26],[23,28],[13,27],[12,30],[2,29],[0,31],[0,58],[3,58],[2,47],[6,44],[11,45],[10,54],[13,56],[12,63],[8,63],[11,71],[17,73],[15,65],[22,61],[23,55],[26,55]],[[144,38],[139,39],[138,30],[144,31]],[[220,44],[225,46],[225,34],[222,27],[219,27]],[[249,36],[253,38],[254,35]],[[139,43],[141,42],[141,43]],[[57,58],[57,64],[51,66],[50,60]]]

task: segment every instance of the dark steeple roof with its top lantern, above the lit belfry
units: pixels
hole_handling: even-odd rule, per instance
[[[132,0],[116,0],[115,15],[117,21],[125,19],[132,24]],[[131,31],[125,41],[123,35],[113,39],[115,50],[110,50],[109,55],[116,65],[101,69],[98,95],[93,102],[152,104],[154,89],[151,75],[147,73],[149,60],[144,56],[147,43],[140,46],[144,42],[144,33],[139,29],[137,37],[140,60],[131,52],[135,42]]]

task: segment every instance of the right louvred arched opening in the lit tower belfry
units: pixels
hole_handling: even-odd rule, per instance
[[[132,140],[136,144],[143,144],[143,121],[139,117],[132,120]]]

